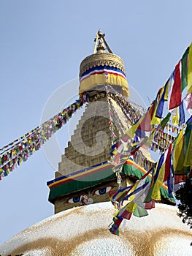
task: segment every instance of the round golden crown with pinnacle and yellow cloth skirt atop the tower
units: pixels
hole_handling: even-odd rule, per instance
[[[100,30],[97,32],[93,54],[83,59],[80,64],[79,94],[108,83],[118,88],[118,91],[124,96],[129,97],[123,60],[118,55],[112,53],[104,36],[105,34],[102,34]],[[105,51],[106,48],[108,53]]]

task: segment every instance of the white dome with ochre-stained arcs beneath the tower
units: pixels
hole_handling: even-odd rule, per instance
[[[24,256],[180,256],[192,255],[192,231],[177,208],[155,204],[147,217],[131,217],[112,235],[110,202],[63,211],[18,233],[0,246],[0,255]]]

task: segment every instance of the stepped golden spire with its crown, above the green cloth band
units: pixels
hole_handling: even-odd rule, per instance
[[[105,86],[110,84],[126,97],[129,94],[123,61],[112,53],[108,45],[109,53],[106,53],[104,42],[104,34],[99,31],[96,34],[94,53],[83,59],[80,64],[79,94],[81,97],[87,95],[88,105],[68,147],[65,148],[58,172],[55,173],[56,178],[73,173],[79,169],[79,165],[82,168],[98,165],[110,157],[110,107]],[[120,111],[120,108],[117,111]],[[122,111],[120,113],[123,114]],[[121,122],[127,129],[126,116],[122,116]],[[115,131],[117,136],[119,132],[120,130]]]

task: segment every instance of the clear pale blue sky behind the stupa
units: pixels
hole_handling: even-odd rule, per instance
[[[0,0],[0,147],[37,127],[62,85],[63,105],[77,95],[68,82],[99,29],[148,105],[192,42],[191,10],[191,0]],[[61,148],[71,132],[63,129]],[[0,244],[53,214],[46,182],[54,171],[40,149],[0,181]]]

